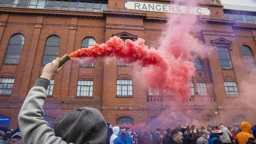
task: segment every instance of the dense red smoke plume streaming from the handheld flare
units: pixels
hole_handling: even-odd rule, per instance
[[[69,55],[70,58],[117,57],[123,62],[136,62],[143,67],[143,76],[146,83],[159,89],[171,91],[180,100],[190,97],[188,82],[195,73],[194,64],[176,53],[161,53],[144,45],[144,39],[137,41],[127,39],[125,43],[119,37],[112,37],[106,43],[94,44],[90,48],[79,49]]]

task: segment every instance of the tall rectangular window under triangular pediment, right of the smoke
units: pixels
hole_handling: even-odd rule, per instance
[[[222,69],[232,69],[231,58],[229,55],[229,48],[217,47],[219,54],[219,62]]]

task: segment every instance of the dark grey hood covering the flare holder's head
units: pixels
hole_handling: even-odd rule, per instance
[[[100,111],[80,107],[55,119],[54,132],[67,143],[106,144],[107,124]]]

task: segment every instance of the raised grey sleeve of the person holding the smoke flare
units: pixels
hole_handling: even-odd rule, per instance
[[[21,107],[18,124],[24,144],[67,144],[61,137],[56,137],[43,120],[43,104],[49,83],[45,78],[38,78]]]

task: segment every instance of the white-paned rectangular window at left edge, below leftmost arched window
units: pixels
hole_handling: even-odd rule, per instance
[[[0,95],[11,94],[14,78],[0,78]]]

